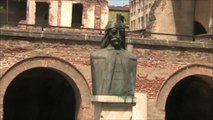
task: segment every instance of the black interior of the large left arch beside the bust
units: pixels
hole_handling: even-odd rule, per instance
[[[3,110],[3,120],[74,120],[76,97],[64,76],[34,68],[10,83]]]

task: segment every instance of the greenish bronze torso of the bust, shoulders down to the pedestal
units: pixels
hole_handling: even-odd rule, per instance
[[[91,58],[94,94],[134,94],[137,60],[134,54],[105,48],[93,52]]]

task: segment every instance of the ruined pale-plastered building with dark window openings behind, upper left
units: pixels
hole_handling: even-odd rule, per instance
[[[104,28],[106,0],[1,0],[1,23]]]

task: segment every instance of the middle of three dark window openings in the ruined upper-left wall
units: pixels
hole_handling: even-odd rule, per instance
[[[49,25],[49,4],[44,2],[36,2],[36,21],[38,26]]]

